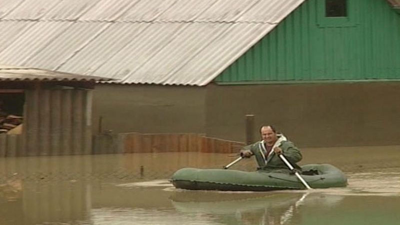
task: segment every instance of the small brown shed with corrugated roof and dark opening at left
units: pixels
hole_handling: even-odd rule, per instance
[[[89,154],[91,91],[101,80],[110,79],[0,65],[0,157]]]

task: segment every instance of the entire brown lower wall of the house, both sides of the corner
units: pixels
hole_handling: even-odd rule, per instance
[[[398,145],[400,83],[284,85],[98,85],[93,131],[205,133],[245,141],[244,115],[256,136],[273,124],[300,147]],[[204,103],[206,102],[206,104]],[[257,136],[258,137],[258,136]]]

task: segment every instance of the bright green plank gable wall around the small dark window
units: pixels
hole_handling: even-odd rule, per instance
[[[400,15],[387,1],[349,0],[344,22],[324,20],[323,2],[306,0],[215,82],[400,80]]]

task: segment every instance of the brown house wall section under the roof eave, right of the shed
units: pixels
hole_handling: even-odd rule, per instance
[[[205,87],[99,84],[93,91],[93,133],[204,133]]]

